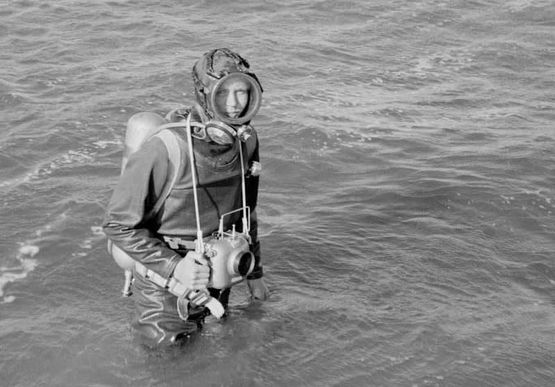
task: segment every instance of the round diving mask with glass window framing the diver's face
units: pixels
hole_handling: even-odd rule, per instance
[[[216,82],[210,91],[214,117],[227,124],[244,124],[260,108],[262,90],[258,82],[244,73],[231,73]]]

